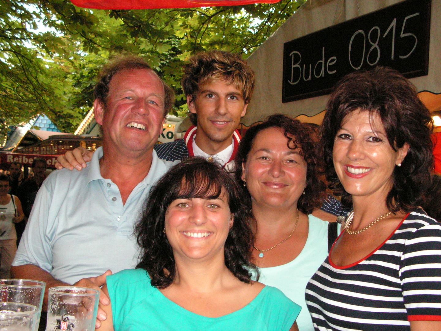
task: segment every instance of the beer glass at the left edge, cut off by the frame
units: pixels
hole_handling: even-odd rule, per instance
[[[0,331],[37,331],[45,282],[0,280]]]

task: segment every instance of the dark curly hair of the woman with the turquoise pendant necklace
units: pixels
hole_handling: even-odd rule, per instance
[[[320,206],[320,199],[323,197],[325,184],[320,181],[318,169],[319,161],[316,153],[316,146],[311,138],[312,129],[290,117],[275,114],[267,117],[260,124],[254,125],[247,130],[245,136],[240,140],[239,148],[235,157],[235,178],[238,183],[242,183],[242,164],[248,159],[248,154],[253,147],[256,135],[268,128],[279,128],[288,139],[287,146],[290,149],[299,148],[299,154],[307,164],[306,168],[306,187],[305,194],[302,194],[297,202],[297,208],[304,214],[312,213],[315,207]],[[243,187],[244,203],[251,204],[250,192]]]

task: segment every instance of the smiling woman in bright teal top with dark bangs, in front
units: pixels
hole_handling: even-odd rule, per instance
[[[251,280],[250,211],[220,165],[191,158],[158,181],[136,233],[141,262],[107,277],[100,331],[298,330],[300,307]]]

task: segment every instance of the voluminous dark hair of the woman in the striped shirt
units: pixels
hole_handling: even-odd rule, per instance
[[[341,196],[343,206],[350,208],[352,197],[344,190],[333,166],[334,139],[344,118],[358,109],[378,114],[394,150],[404,143],[410,147],[402,165],[396,166],[393,172],[393,186],[386,199],[389,211],[409,212],[419,206],[422,193],[430,183],[433,165],[430,134],[434,124],[415,86],[390,68],[354,72],[337,83],[326,109],[320,149],[329,188]]]

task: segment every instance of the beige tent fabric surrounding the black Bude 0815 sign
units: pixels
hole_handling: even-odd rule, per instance
[[[308,0],[248,58],[256,74],[253,98],[244,124],[250,125],[273,113],[291,117],[314,116],[326,108],[329,95],[282,103],[283,44],[401,0]],[[418,91],[441,92],[441,0],[432,0],[429,75],[411,78]],[[398,31],[398,28],[397,28]],[[400,30],[401,31],[401,30]],[[398,31],[398,36],[400,36]],[[367,45],[366,45],[367,47]],[[369,48],[366,48],[366,52]]]

